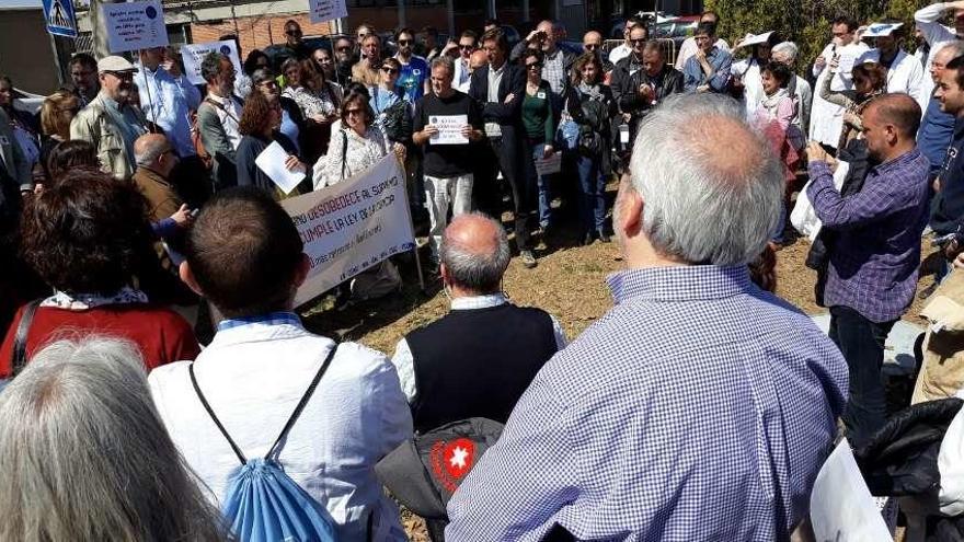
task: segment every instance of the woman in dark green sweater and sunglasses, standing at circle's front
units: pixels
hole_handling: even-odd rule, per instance
[[[526,161],[528,185],[539,189],[539,226],[546,232],[552,219],[552,198],[549,193],[549,180],[536,170],[536,162],[551,158],[555,150],[552,139],[555,135],[555,122],[552,112],[552,88],[542,79],[542,51],[526,49],[523,54],[523,66],[526,68],[526,95],[523,99],[523,125],[526,137],[532,149],[530,160]]]

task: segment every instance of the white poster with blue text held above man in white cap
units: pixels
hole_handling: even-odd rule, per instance
[[[111,53],[149,49],[168,45],[168,28],[160,0],[104,3],[104,26]]]

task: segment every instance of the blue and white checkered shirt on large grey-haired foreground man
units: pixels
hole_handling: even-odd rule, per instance
[[[539,372],[448,505],[446,539],[788,539],[847,401],[847,365],[745,267],[628,270]]]

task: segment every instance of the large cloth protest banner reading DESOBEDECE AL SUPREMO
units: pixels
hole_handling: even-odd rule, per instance
[[[282,201],[310,260],[295,305],[415,247],[405,175],[394,154],[338,184]]]

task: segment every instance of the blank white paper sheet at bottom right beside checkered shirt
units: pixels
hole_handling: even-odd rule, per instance
[[[816,540],[893,540],[847,439],[840,440],[817,474],[810,497],[810,519]]]

